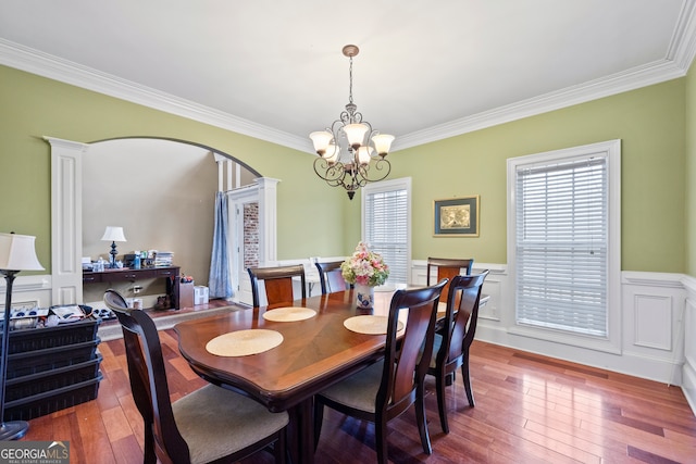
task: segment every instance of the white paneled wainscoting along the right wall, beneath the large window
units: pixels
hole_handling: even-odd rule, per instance
[[[682,386],[696,412],[696,278],[682,274],[621,273],[621,349],[611,353],[572,342],[549,341],[514,330],[513,283],[506,265],[474,263],[489,269],[476,339]],[[411,279],[425,284],[426,261],[411,263]],[[687,300],[688,291],[688,300]],[[686,340],[686,342],[685,342]]]

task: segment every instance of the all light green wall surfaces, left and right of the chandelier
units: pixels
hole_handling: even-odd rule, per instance
[[[194,141],[228,153],[278,185],[278,259],[348,254],[360,238],[360,196],[326,187],[313,158],[274,143],[173,116],[0,66],[0,230],[37,236],[50,263],[50,150],[41,136],[89,142],[125,136]],[[506,263],[506,161],[611,139],[622,140],[622,268],[696,268],[696,225],[685,218],[686,179],[696,176],[686,117],[696,111],[694,77],[624,92],[389,155],[389,178],[413,179],[413,250]],[[687,92],[687,89],[691,90]],[[689,95],[689,104],[686,95]],[[689,135],[689,137],[694,137]],[[687,168],[689,170],[687,173]],[[685,174],[687,173],[687,174]],[[104,178],[108,181],[108,177]],[[478,238],[434,238],[433,200],[478,195]],[[689,190],[689,204],[696,203]],[[17,201],[9,201],[17,199]],[[693,208],[689,209],[689,211]]]

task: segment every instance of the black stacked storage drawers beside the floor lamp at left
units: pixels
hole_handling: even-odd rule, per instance
[[[5,421],[28,421],[97,398],[99,322],[88,317],[10,333]]]

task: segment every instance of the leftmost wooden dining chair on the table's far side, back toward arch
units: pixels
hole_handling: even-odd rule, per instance
[[[302,299],[307,298],[307,284],[304,279],[304,266],[301,264],[277,267],[247,267],[251,279],[251,297],[253,306],[259,304],[259,280],[265,286],[265,298],[269,306],[289,304],[295,298],[293,290],[293,277],[300,278]]]

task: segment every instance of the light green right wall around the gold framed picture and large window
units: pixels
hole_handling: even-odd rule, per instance
[[[675,79],[393,153],[390,177],[413,177],[412,259],[506,263],[507,160],[621,139],[622,268],[684,272],[684,92]],[[472,195],[480,237],[433,237],[433,200]]]

